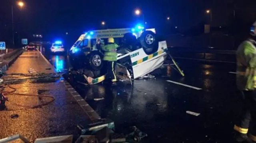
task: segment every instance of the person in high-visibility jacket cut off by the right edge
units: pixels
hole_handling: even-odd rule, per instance
[[[239,45],[236,52],[236,84],[242,92],[242,112],[234,130],[236,141],[251,140],[256,143],[256,22],[253,27],[250,37]]]

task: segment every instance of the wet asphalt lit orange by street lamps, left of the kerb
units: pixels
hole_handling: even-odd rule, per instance
[[[52,73],[53,70],[46,70],[49,65],[37,51],[24,52],[8,69],[7,74],[24,73],[28,74],[30,68],[38,72]],[[7,76],[8,79],[29,78],[24,76]],[[26,96],[6,94],[7,110],[0,110],[0,139],[20,134],[29,141],[36,138],[52,137],[59,135],[70,135],[77,133],[76,125],[86,123],[86,114],[80,108],[70,92],[67,92],[61,80],[56,82],[16,82],[10,85],[16,88],[15,93],[29,94]],[[6,87],[4,91],[11,91]],[[55,98],[35,96],[38,94],[48,95]],[[49,104],[33,108],[40,103]],[[11,115],[18,115],[18,118],[11,118]]]

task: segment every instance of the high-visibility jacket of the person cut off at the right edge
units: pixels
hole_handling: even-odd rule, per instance
[[[239,90],[256,88],[256,41],[248,39],[236,51],[236,84]]]

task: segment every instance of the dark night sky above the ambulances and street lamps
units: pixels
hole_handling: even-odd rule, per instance
[[[0,30],[11,30],[11,1],[0,0]],[[234,8],[242,22],[256,20],[255,0],[23,0],[20,10],[14,4],[15,30],[20,33],[60,34],[83,33],[100,29],[101,21],[108,28],[132,27],[142,16],[148,27],[178,26],[185,30],[209,19],[205,10],[212,10],[212,25],[230,23]],[[15,3],[15,0],[13,0]],[[170,21],[166,20],[170,17]],[[6,30],[7,29],[7,30]],[[0,31],[0,32],[1,32]],[[2,34],[3,35],[3,34]]]

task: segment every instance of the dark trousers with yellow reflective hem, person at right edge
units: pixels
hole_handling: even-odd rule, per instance
[[[250,126],[250,134],[256,141],[256,91],[242,91],[241,114],[234,129],[239,133],[246,134]]]

